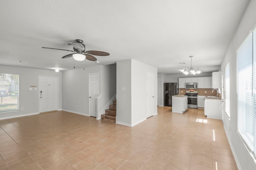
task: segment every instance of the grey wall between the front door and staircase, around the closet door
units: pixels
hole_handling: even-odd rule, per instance
[[[62,72],[62,109],[89,115],[89,74],[99,73],[99,111],[116,94],[116,64]]]

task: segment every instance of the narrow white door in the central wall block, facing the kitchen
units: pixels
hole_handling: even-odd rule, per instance
[[[154,73],[147,72],[147,85],[146,85],[146,116],[147,118],[154,115]]]

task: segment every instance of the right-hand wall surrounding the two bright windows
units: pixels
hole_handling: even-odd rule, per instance
[[[252,30],[256,24],[256,0],[251,0],[244,16],[234,34],[230,43],[228,51],[222,61],[221,70],[224,68],[228,61],[230,61],[230,119],[224,114],[224,127],[226,129],[228,138],[234,156],[238,161],[238,168],[241,170],[255,170],[256,163],[248,150],[244,146],[242,140],[237,134],[237,94],[236,94],[236,50],[244,41],[249,31]],[[229,130],[230,127],[230,130]]]

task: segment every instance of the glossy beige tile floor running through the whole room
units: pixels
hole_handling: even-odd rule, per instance
[[[66,111],[0,120],[0,170],[237,170],[221,120],[171,110],[134,127]]]

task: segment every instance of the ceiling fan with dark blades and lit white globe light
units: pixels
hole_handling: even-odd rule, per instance
[[[65,50],[65,49],[56,49],[56,50],[63,50],[63,51],[70,51],[73,52],[72,54],[68,54],[62,57],[62,59],[73,57],[77,61],[84,61],[84,59],[90,60],[90,61],[96,61],[96,57],[92,55],[98,55],[98,56],[108,56],[109,53],[103,52],[103,51],[85,51],[85,45],[83,44],[82,39],[76,39],[75,41],[71,43],[66,43],[66,45],[70,45],[73,47],[72,50]],[[48,48],[48,47],[42,47],[44,49],[54,49],[54,48]]]

